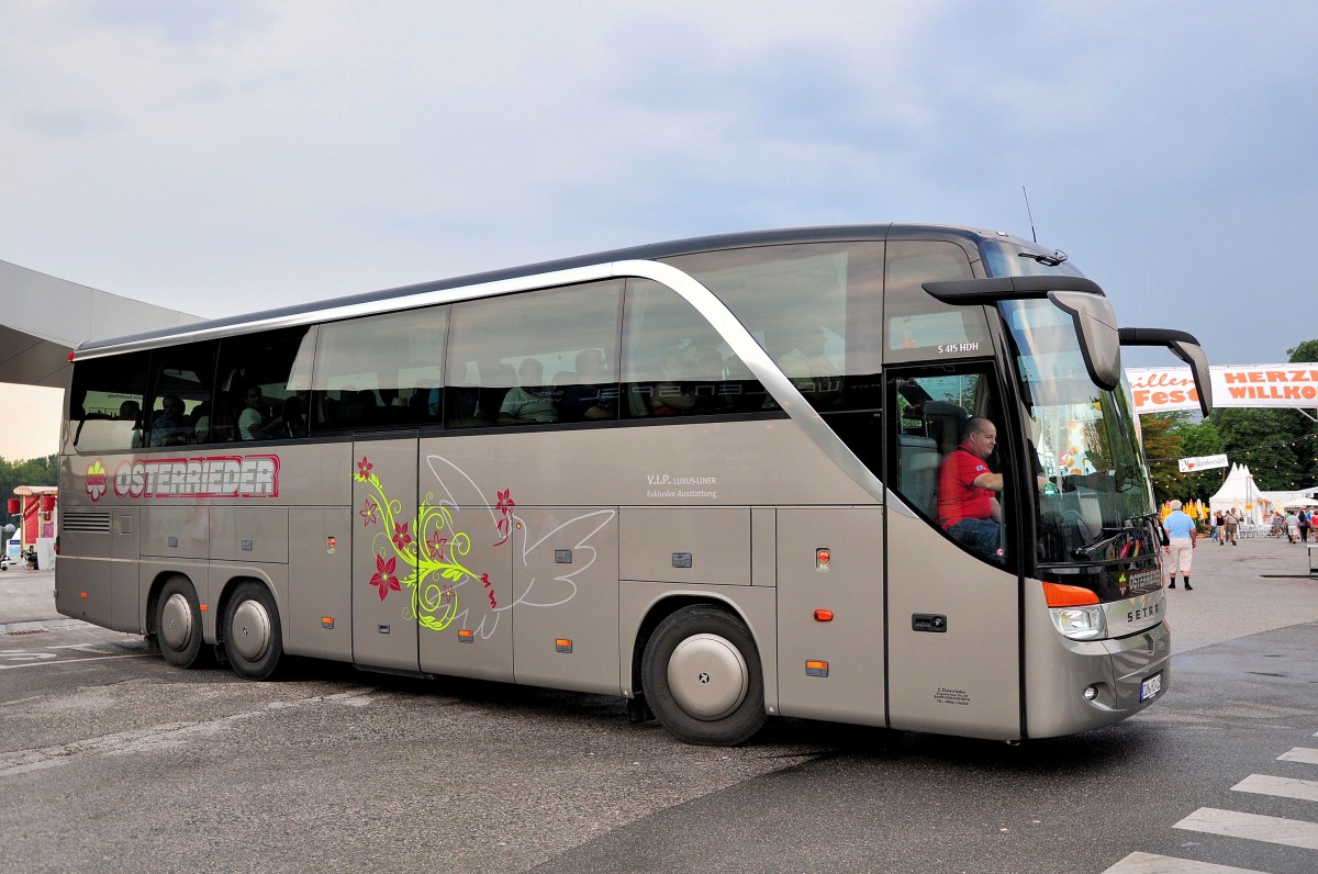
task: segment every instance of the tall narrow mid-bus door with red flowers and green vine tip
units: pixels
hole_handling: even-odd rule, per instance
[[[353,444],[352,658],[416,671],[416,434]]]

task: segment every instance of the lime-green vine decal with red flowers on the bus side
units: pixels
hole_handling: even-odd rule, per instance
[[[416,508],[416,515],[405,518],[402,502],[385,493],[384,484],[373,472],[374,467],[362,456],[357,461],[353,480],[369,485],[376,493],[357,510],[362,526],[369,527],[377,522],[382,525],[382,530],[376,533],[377,546],[384,544],[385,535],[389,535],[384,551],[376,552],[376,573],[370,577],[370,585],[380,592],[380,600],[384,601],[390,592],[401,592],[406,587],[411,593],[411,614],[422,626],[436,631],[448,627],[459,616],[457,591],[467,581],[478,583],[490,609],[497,609],[498,598],[489,575],[476,573],[461,563],[461,558],[471,550],[472,538],[455,527],[452,510],[438,502],[434,494],[427,494]],[[500,518],[496,527],[503,539],[496,546],[505,543],[511,534],[513,506],[511,489],[500,492],[496,506]],[[385,551],[391,551],[393,555],[386,556]],[[395,573],[399,559],[407,571],[402,577]]]

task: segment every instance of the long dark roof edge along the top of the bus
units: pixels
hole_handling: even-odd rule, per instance
[[[846,225],[824,225],[824,227],[809,227],[809,228],[783,228],[774,231],[743,231],[737,233],[720,233],[713,236],[688,237],[685,240],[670,240],[666,243],[650,243],[638,247],[629,247],[625,249],[613,249],[609,252],[597,252],[593,254],[573,256],[568,258],[558,258],[554,261],[542,261],[538,264],[527,264],[501,270],[472,273],[467,276],[452,277],[448,279],[436,279],[431,282],[420,282],[416,285],[406,285],[394,289],[384,289],[380,291],[365,291],[360,294],[352,294],[327,301],[316,301],[311,303],[299,303],[286,307],[277,307],[272,310],[262,310],[258,312],[224,316],[220,319],[195,322],[192,324],[186,324],[181,327],[145,331],[141,334],[133,334],[119,337],[88,340],[86,343],[82,343],[76,348],[76,351],[74,352],[74,359],[76,360],[79,357],[79,353],[108,353],[113,351],[116,347],[150,348],[156,345],[173,345],[174,343],[187,341],[191,339],[196,339],[198,336],[215,337],[225,335],[237,335],[257,327],[306,323],[311,320],[307,316],[319,312],[327,314],[327,318],[341,318],[341,316],[332,316],[330,315],[330,312],[333,310],[370,308],[370,305],[384,305],[385,302],[389,302],[391,306],[389,307],[378,306],[380,311],[387,308],[406,308],[409,306],[407,298],[410,297],[420,297],[435,291],[463,289],[467,286],[488,285],[492,282],[501,282],[507,279],[518,279],[523,277],[532,277],[539,274],[612,264],[614,261],[670,258],[680,254],[695,254],[699,252],[737,249],[737,248],[757,247],[757,245],[836,243],[847,240],[886,240],[894,235],[899,235],[903,239],[919,239],[925,236],[938,237],[938,239],[961,237],[967,241],[978,240],[982,237],[992,237],[996,240],[1015,243],[1031,249],[1037,248],[1031,243],[1028,243],[1027,240],[1020,240],[1012,237],[1011,235],[998,231],[985,231],[970,227],[937,225],[937,224],[896,224],[896,223],[846,224]],[[418,306],[423,305],[424,305],[423,302],[418,302]]]

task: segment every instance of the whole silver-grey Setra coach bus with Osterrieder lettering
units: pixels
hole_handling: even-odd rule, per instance
[[[1169,684],[1126,343],[991,232],[705,237],[83,344],[57,605],[179,667],[283,655],[1019,740]],[[1203,395],[1205,410],[1209,398]],[[940,525],[998,428],[1002,522]]]

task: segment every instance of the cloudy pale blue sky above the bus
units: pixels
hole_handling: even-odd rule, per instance
[[[1311,0],[12,0],[0,260],[220,316],[724,231],[1028,237],[1024,187],[1123,323],[1275,363],[1318,337],[1315,46]]]

